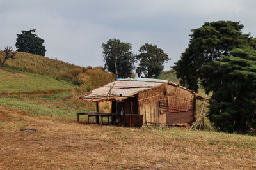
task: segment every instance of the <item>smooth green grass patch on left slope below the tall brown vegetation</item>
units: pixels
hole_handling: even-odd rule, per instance
[[[67,81],[56,80],[49,76],[13,69],[0,69],[0,94],[49,92],[54,90],[68,90],[74,85]]]

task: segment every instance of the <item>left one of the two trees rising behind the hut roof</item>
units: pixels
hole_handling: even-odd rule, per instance
[[[121,42],[119,39],[109,39],[102,43],[104,68],[116,74],[116,78],[131,76],[134,69],[134,55],[131,43]]]

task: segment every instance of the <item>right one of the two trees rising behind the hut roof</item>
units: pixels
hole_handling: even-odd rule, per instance
[[[157,78],[164,69],[164,62],[169,60],[168,55],[156,45],[145,43],[138,50],[136,60],[140,62],[136,73],[140,77],[143,73],[146,78]]]

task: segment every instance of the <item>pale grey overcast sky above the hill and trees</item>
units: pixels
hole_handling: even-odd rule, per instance
[[[15,46],[21,30],[36,29],[46,56],[79,66],[104,66],[102,43],[117,38],[162,48],[170,69],[189,43],[190,30],[204,22],[241,21],[256,36],[253,0],[0,0],[0,49]]]

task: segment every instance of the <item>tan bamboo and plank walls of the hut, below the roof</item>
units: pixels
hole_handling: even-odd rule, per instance
[[[139,114],[148,125],[171,125],[194,121],[193,93],[173,85],[160,85],[138,94]]]

